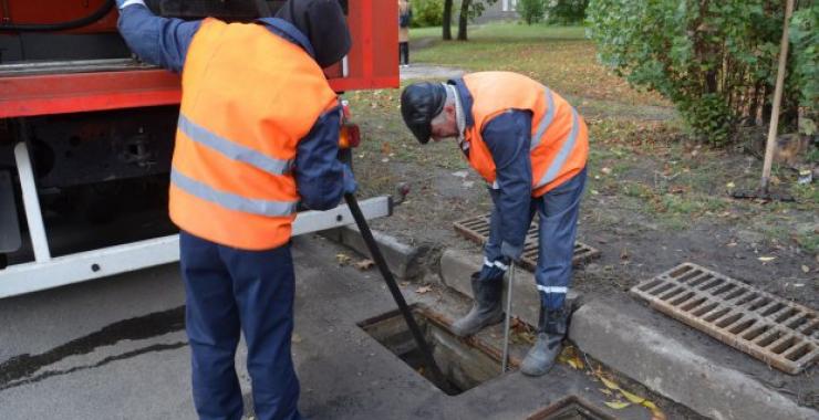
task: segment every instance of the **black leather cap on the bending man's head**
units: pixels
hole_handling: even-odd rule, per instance
[[[429,141],[432,120],[446,103],[446,87],[440,83],[416,83],[401,93],[401,115],[422,145]]]

